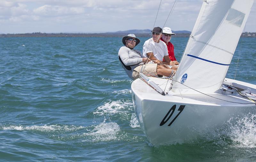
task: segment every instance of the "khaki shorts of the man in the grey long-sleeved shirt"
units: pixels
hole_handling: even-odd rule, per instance
[[[145,66],[145,69],[143,71],[143,74],[145,75],[150,75],[150,76],[157,76],[157,73],[156,73],[156,69],[157,69],[157,64],[146,64],[144,65]],[[132,72],[132,78],[133,80],[135,79],[138,79],[140,77],[140,71],[141,71],[141,67],[142,65],[140,66],[137,66],[133,72]],[[144,68],[144,67],[143,67]]]

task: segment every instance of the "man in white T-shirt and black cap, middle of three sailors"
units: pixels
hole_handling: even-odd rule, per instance
[[[143,56],[150,58],[157,64],[175,65],[169,58],[166,44],[160,41],[162,32],[161,27],[154,27],[152,38],[148,39],[143,45]],[[163,58],[165,61],[162,61]]]

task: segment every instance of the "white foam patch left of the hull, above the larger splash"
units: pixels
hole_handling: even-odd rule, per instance
[[[118,101],[109,101],[104,103],[103,105],[96,108],[96,112],[93,114],[105,115],[105,114],[116,114],[119,112],[124,112],[126,108],[132,109],[131,102],[124,102],[123,100]]]

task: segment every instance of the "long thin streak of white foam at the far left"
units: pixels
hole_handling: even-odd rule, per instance
[[[75,131],[82,129],[82,126],[58,126],[58,125],[43,125],[43,126],[4,126],[2,127],[3,130],[32,130],[32,131],[41,131],[41,132],[59,132],[59,131]]]

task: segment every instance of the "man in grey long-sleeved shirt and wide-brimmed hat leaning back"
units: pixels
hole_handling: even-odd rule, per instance
[[[140,39],[136,38],[134,34],[124,36],[122,41],[124,46],[119,49],[118,57],[127,75],[135,80],[140,77],[143,63],[148,63],[151,60],[143,56],[139,50],[133,49],[140,43]],[[170,68],[152,62],[143,66],[143,74],[156,77],[158,75],[171,76],[176,70],[176,67]]]

